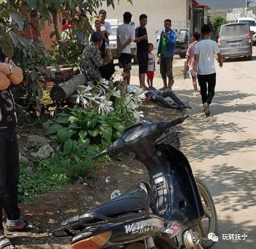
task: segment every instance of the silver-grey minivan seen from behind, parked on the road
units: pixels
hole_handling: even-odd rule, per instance
[[[218,46],[225,58],[244,56],[252,59],[252,34],[249,24],[237,22],[221,26]]]

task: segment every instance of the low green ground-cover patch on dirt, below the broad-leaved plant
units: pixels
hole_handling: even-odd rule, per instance
[[[34,159],[32,172],[20,165],[19,200],[28,203],[46,193],[84,181],[95,174],[91,160],[84,155],[55,155],[47,160]]]

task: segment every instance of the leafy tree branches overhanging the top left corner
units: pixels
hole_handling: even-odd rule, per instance
[[[131,3],[132,0],[127,0]],[[40,39],[31,42],[22,37],[23,31],[32,24],[20,13],[22,8],[27,8],[31,17],[38,17],[39,29],[44,29],[45,24],[54,24],[54,33],[60,40],[58,30],[58,12],[68,17],[75,31],[86,32],[90,28],[90,17],[96,14],[97,8],[102,5],[102,0],[0,0],[0,47],[4,54],[10,57],[24,70],[24,86],[19,86],[20,95],[26,96],[28,102],[37,100],[40,105],[40,77],[49,65],[55,66],[51,54],[42,47]],[[107,0],[108,6],[115,7],[115,0]],[[117,1],[119,3],[119,0]],[[22,88],[22,89],[21,89]],[[22,93],[22,94],[21,94]]]

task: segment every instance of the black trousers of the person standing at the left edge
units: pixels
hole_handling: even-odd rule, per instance
[[[8,220],[19,220],[19,148],[14,128],[0,129],[0,234],[3,211]]]

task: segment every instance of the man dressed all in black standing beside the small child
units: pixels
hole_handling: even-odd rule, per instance
[[[148,69],[148,34],[147,15],[140,15],[140,26],[135,31],[135,42],[137,43],[137,58],[139,63],[140,87],[146,89],[145,75]]]

